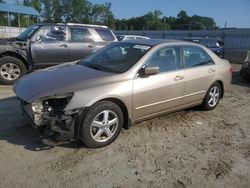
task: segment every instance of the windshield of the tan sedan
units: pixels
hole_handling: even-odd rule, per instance
[[[96,70],[123,73],[129,70],[151,46],[117,42],[108,45],[79,62]]]

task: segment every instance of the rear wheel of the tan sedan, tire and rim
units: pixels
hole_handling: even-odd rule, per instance
[[[213,110],[219,103],[222,95],[222,88],[218,82],[215,82],[207,91],[201,104],[203,110]]]

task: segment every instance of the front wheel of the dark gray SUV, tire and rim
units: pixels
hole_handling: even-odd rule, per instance
[[[20,59],[10,56],[0,58],[0,84],[11,85],[27,73]]]

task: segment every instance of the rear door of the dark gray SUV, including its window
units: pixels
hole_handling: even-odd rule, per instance
[[[71,61],[79,60],[96,50],[94,39],[87,27],[70,26],[69,56]]]

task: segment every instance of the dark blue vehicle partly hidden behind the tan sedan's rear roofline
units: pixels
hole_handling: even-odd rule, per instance
[[[213,51],[216,55],[224,58],[224,42],[220,38],[188,37],[183,40],[202,44]]]

